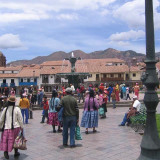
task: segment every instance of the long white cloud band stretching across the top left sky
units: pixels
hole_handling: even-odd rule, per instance
[[[41,20],[57,16],[53,12],[63,12],[64,10],[76,11],[91,9],[95,10],[105,7],[116,0],[31,0],[0,2],[0,22],[9,23],[21,20]],[[3,10],[3,12],[2,12]],[[77,19],[76,15],[60,13],[58,19]]]

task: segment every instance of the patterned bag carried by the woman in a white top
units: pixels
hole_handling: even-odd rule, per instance
[[[20,131],[19,135],[14,141],[13,147],[20,150],[27,150],[26,142],[27,140],[24,138],[23,132]]]

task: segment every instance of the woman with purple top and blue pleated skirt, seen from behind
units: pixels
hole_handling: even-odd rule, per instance
[[[85,133],[88,134],[88,128],[93,128],[93,133],[96,132],[98,127],[98,108],[99,104],[94,97],[94,91],[89,92],[89,97],[85,99],[84,111],[81,120],[81,127],[85,127]]]

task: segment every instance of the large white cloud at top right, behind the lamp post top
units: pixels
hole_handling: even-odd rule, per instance
[[[160,28],[160,14],[157,7],[160,6],[158,0],[153,0],[155,28]],[[113,16],[126,22],[129,27],[139,28],[145,25],[145,0],[133,0],[127,2],[113,11]]]

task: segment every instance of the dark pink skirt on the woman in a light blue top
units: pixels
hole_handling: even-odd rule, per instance
[[[58,121],[58,112],[48,114],[48,124],[61,126],[61,123]]]

